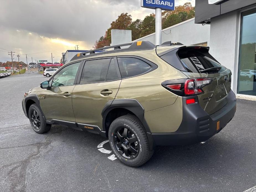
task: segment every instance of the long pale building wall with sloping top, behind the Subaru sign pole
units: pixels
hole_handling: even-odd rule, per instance
[[[180,42],[184,45],[195,45],[210,40],[210,25],[195,24],[195,18],[165,28],[163,31],[162,43],[172,41],[174,43]],[[152,33],[135,41],[138,40],[148,40],[155,44],[156,34]]]

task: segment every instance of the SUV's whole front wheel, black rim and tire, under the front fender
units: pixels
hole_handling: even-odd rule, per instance
[[[29,107],[29,121],[36,133],[46,133],[50,131],[51,125],[47,124],[43,116],[43,112],[37,104],[32,104]]]

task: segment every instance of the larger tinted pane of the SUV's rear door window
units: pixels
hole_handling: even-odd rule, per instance
[[[111,59],[86,61],[82,71],[80,84],[106,81],[108,66]]]

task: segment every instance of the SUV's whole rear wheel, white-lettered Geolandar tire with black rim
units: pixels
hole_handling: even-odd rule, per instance
[[[143,165],[154,153],[150,149],[146,130],[135,115],[115,119],[110,125],[108,139],[117,159],[131,167]]]

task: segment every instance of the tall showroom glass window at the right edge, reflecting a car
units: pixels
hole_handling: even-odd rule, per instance
[[[237,93],[256,96],[256,9],[242,13]]]

